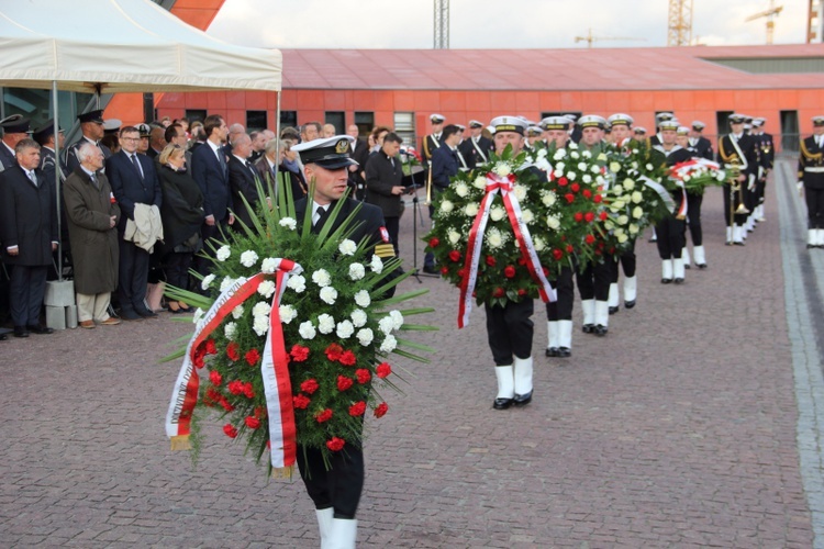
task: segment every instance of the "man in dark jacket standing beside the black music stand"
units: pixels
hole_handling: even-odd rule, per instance
[[[403,139],[398,134],[389,132],[383,137],[380,150],[366,163],[366,202],[379,206],[383,212],[396,255],[399,254],[398,233],[403,211],[401,195],[407,192],[402,183],[403,168],[399,156],[401,143]]]

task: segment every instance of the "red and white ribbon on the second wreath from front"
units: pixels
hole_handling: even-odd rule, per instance
[[[544,302],[555,301],[555,290],[544,274],[544,268],[535,253],[535,246],[532,243],[530,229],[521,214],[521,204],[513,192],[515,188],[515,176],[510,173],[506,177],[497,173],[487,173],[487,189],[483,200],[481,200],[478,214],[475,216],[472,228],[469,231],[469,242],[467,244],[467,254],[464,259],[464,279],[460,281],[460,302],[458,303],[458,328],[469,324],[469,314],[472,312],[472,294],[475,284],[478,281],[478,264],[480,261],[481,248],[483,246],[483,232],[489,221],[489,210],[492,206],[495,194],[500,193],[503,200],[506,215],[512,226],[512,232],[520,245],[521,255],[526,260],[526,268],[533,280],[538,283],[538,294]]]

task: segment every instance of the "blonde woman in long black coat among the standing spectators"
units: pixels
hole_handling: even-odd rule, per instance
[[[167,145],[158,156],[158,164],[163,191],[162,264],[166,283],[186,290],[192,258],[203,247],[200,238],[203,194],[186,170],[186,150],[181,146]],[[182,301],[169,302],[169,311],[172,313],[187,312],[189,309]]]

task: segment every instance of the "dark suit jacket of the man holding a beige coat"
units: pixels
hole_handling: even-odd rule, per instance
[[[155,161],[146,155],[135,156],[143,168],[143,178],[125,150],[121,150],[105,161],[105,177],[120,205],[121,216],[118,225],[120,233],[126,229],[126,220],[134,220],[135,204],[154,204],[157,208],[163,204],[163,191],[160,181],[157,179],[157,171],[155,171]]]

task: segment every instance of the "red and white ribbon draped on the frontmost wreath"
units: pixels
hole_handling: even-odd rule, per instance
[[[289,467],[296,461],[296,427],[292,408],[292,391],[289,381],[289,359],[280,324],[280,298],[289,280],[289,274],[299,274],[303,269],[289,259],[277,259],[275,271],[275,295],[269,313],[269,332],[260,365],[264,379],[267,412],[269,417],[269,441],[271,442],[271,464],[276,468]],[[207,338],[220,327],[232,311],[257,292],[258,285],[272,274],[259,272],[249,279],[238,279],[223,291],[209,311],[198,321],[183,356],[171,402],[166,413],[166,435],[172,439],[188,437],[191,432],[191,416],[198,402],[202,368],[194,366],[194,355]]]

